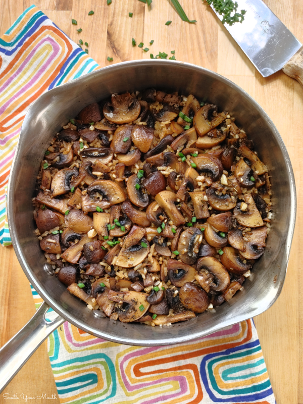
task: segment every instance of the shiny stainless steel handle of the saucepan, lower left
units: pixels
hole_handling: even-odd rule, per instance
[[[44,316],[49,306],[43,301],[29,322],[0,349],[0,392],[9,384],[41,343],[65,322],[52,312],[52,321]]]

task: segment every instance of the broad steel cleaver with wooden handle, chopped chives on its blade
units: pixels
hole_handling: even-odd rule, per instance
[[[224,27],[263,77],[279,70],[303,86],[303,46],[262,0],[237,0],[244,21]],[[222,21],[216,11],[215,13]]]

